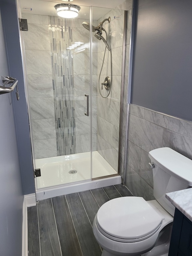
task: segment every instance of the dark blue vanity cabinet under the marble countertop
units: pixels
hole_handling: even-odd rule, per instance
[[[177,208],[168,256],[192,256],[192,222]]]

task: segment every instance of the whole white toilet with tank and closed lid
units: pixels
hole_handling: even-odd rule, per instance
[[[170,234],[168,239],[165,236],[175,207],[165,193],[192,186],[192,161],[167,147],[150,151],[149,157],[156,200],[118,197],[100,207],[93,233],[103,248],[102,256],[168,255]]]

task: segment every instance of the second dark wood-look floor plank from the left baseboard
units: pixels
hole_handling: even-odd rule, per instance
[[[41,256],[61,256],[51,198],[38,202]]]

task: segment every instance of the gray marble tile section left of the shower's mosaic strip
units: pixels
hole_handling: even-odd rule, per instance
[[[22,14],[22,18],[29,29],[23,36],[35,158],[56,156],[49,19],[35,14]]]

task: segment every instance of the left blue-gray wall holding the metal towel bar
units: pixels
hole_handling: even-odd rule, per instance
[[[0,53],[0,75],[9,75],[1,14]],[[0,142],[0,255],[20,256],[23,192],[11,93],[0,95]]]

